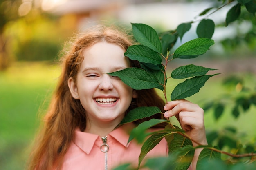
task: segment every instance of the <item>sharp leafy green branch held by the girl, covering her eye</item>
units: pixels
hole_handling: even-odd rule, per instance
[[[215,70],[213,68],[205,68],[202,66],[195,66],[193,64],[180,66],[174,69],[171,73],[171,77],[167,78],[167,65],[168,62],[179,59],[191,59],[203,55],[214,44],[214,41],[208,38],[197,38],[182,44],[178,47],[173,54],[169,54],[167,50],[166,55],[162,53],[163,45],[157,35],[157,32],[146,24],[134,24],[132,23],[132,32],[135,39],[140,43],[139,45],[133,45],[128,47],[125,56],[131,60],[137,60],[140,63],[141,68],[126,68],[121,71],[108,73],[112,76],[118,76],[124,83],[135,90],[158,88],[163,91],[164,97],[167,103],[166,96],[166,83],[167,79],[186,79],[184,82],[178,84],[171,93],[171,100],[184,99],[190,97],[195,93],[198,93],[210,77],[214,75],[207,75],[208,71]],[[170,57],[172,57],[170,59]],[[162,63],[162,58],[164,62]],[[150,117],[157,113],[161,113],[161,110],[157,107],[139,107],[131,110],[126,114],[121,124],[130,123],[138,119]],[[164,131],[147,132],[148,128],[151,128],[157,124],[167,123]],[[150,137],[145,141],[146,137]],[[175,155],[173,159],[173,165],[175,169],[186,170],[191,164],[193,154],[196,148],[204,148],[198,158],[198,167],[202,165],[206,159],[218,160],[220,154],[226,154],[231,157],[254,157],[256,153],[248,154],[232,154],[219,150],[217,147],[199,146],[193,147],[192,141],[189,136],[186,135],[184,130],[172,125],[169,120],[162,119],[150,119],[139,124],[131,131],[129,141],[136,139],[139,143],[143,143],[141,148],[141,154],[139,156],[139,165],[144,159],[145,155],[154,148],[159,141],[163,138],[166,139],[169,146],[169,155]]]

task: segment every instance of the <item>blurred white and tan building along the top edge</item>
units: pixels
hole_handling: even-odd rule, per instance
[[[44,11],[76,15],[79,29],[99,20],[175,29],[177,24],[194,20],[210,6],[209,1],[189,3],[186,0],[42,0]]]

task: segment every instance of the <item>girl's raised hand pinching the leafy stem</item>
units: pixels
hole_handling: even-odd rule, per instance
[[[177,118],[182,129],[191,138],[193,146],[207,145],[202,108],[182,99],[168,102],[164,106],[164,110],[166,110],[164,117],[175,116]]]

